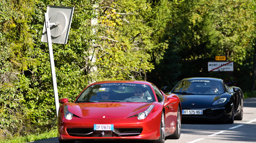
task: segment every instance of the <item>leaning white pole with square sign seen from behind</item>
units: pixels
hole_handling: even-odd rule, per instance
[[[73,13],[74,7],[48,6],[47,13],[45,13],[45,26],[43,28],[43,36],[41,38],[41,42],[48,42],[49,46],[51,75],[53,78],[53,91],[57,117],[59,111],[59,97],[57,92],[52,43],[67,44]]]

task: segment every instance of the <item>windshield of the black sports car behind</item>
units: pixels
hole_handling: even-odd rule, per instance
[[[173,93],[181,93],[181,94],[207,94],[207,95],[215,95],[224,93],[224,88],[220,82],[217,81],[181,81],[175,89],[172,91]]]

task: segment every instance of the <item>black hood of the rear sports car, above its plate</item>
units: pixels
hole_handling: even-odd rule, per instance
[[[182,109],[208,108],[222,95],[178,95]],[[225,96],[226,97],[226,96]]]

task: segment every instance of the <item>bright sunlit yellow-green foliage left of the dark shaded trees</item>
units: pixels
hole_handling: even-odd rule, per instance
[[[151,11],[147,1],[0,3],[1,138],[56,125],[49,50],[41,42],[47,5],[75,7],[68,44],[53,44],[59,98],[75,99],[93,81],[145,79],[153,68],[151,28],[144,21]],[[95,26],[93,18],[99,21]]]

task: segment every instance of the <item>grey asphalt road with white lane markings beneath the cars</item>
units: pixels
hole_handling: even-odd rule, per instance
[[[182,122],[180,139],[165,140],[165,143],[232,143],[256,142],[256,98],[244,100],[244,117],[234,124],[213,124],[211,122]],[[34,141],[35,143],[57,143],[57,138]],[[104,142],[104,141],[101,141]],[[113,142],[108,141],[108,142]],[[126,143],[130,141],[122,141]],[[135,141],[132,141],[135,142]],[[104,142],[106,143],[106,142]]]

